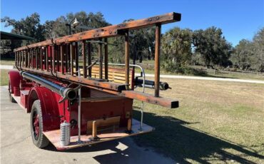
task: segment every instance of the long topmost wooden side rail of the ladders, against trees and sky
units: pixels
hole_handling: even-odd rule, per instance
[[[63,36],[57,39],[51,39],[47,41],[41,41],[39,43],[33,43],[31,45],[28,45],[29,48],[33,48],[36,46],[47,46],[54,43],[65,43],[65,42],[71,42],[71,41],[81,41],[81,40],[87,40],[87,39],[96,39],[99,37],[111,37],[111,36],[118,36],[119,31],[123,31],[126,29],[142,29],[144,27],[153,26],[155,24],[168,24],[171,22],[181,21],[181,14],[178,13],[168,13],[163,14],[159,16],[153,16],[148,19],[140,19],[136,21],[128,21],[126,23],[117,24],[113,26],[106,26],[99,29],[93,29],[84,31],[77,34],[72,34],[69,36]],[[14,51],[21,51],[23,49],[26,49],[27,46],[22,46],[20,48],[16,48]]]

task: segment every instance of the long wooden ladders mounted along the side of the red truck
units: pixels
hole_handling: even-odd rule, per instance
[[[39,43],[16,48],[16,68],[22,71],[30,71],[49,78],[81,83],[83,86],[95,88],[100,91],[116,95],[135,98],[139,101],[177,108],[178,101],[173,101],[159,96],[160,83],[160,53],[161,53],[161,25],[181,21],[181,14],[168,13],[153,16],[148,19],[129,21],[113,26],[92,29],[77,34],[63,36],[57,39],[49,39]],[[129,90],[129,30],[143,29],[156,26],[155,33],[155,94],[140,93]],[[108,82],[108,38],[124,36],[125,39],[125,81],[126,83]],[[91,41],[98,41],[98,68],[99,79],[91,78]],[[104,42],[104,43],[103,43]],[[81,44],[82,63],[79,63],[78,44]],[[103,51],[104,48],[104,51]],[[104,52],[104,54],[103,54]],[[88,62],[86,63],[86,58]],[[104,58],[104,61],[103,61]],[[75,64],[74,64],[75,63]],[[79,66],[83,73],[78,77]],[[90,66],[90,67],[89,67]],[[104,68],[103,68],[104,66]],[[88,67],[88,70],[86,69]],[[104,71],[104,80],[103,80]]]

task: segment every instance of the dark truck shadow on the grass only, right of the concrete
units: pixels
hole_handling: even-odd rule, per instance
[[[134,118],[140,119],[140,116],[139,111],[133,111]],[[228,160],[238,163],[254,163],[245,159],[249,156],[264,159],[263,155],[242,145],[188,128],[186,125],[191,123],[186,121],[173,117],[156,116],[154,113],[144,113],[143,121],[155,127],[156,130],[146,135],[135,136],[136,143],[155,148],[156,151],[168,155],[179,163],[188,163],[186,159],[198,163],[219,163]],[[235,150],[236,153],[233,154],[223,149]]]

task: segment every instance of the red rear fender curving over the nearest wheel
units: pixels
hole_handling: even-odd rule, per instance
[[[29,92],[27,113],[31,112],[31,106],[34,101],[39,100],[41,103],[41,112],[43,119],[43,130],[55,130],[60,126],[60,114],[56,93],[43,86],[31,88]]]

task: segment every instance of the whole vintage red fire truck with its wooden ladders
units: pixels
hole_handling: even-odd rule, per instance
[[[16,48],[18,71],[9,71],[9,93],[31,113],[33,143],[67,150],[151,132],[154,128],[143,123],[143,106],[141,121],[132,118],[133,99],[178,108],[177,100],[159,96],[169,88],[160,81],[161,25],[176,21],[181,14],[173,12]],[[147,81],[143,68],[138,66],[141,76],[135,77],[137,65],[129,62],[129,31],[151,26],[156,26],[155,80]],[[108,63],[108,38],[116,36],[124,38],[125,63]],[[143,91],[135,91],[137,86]]]

